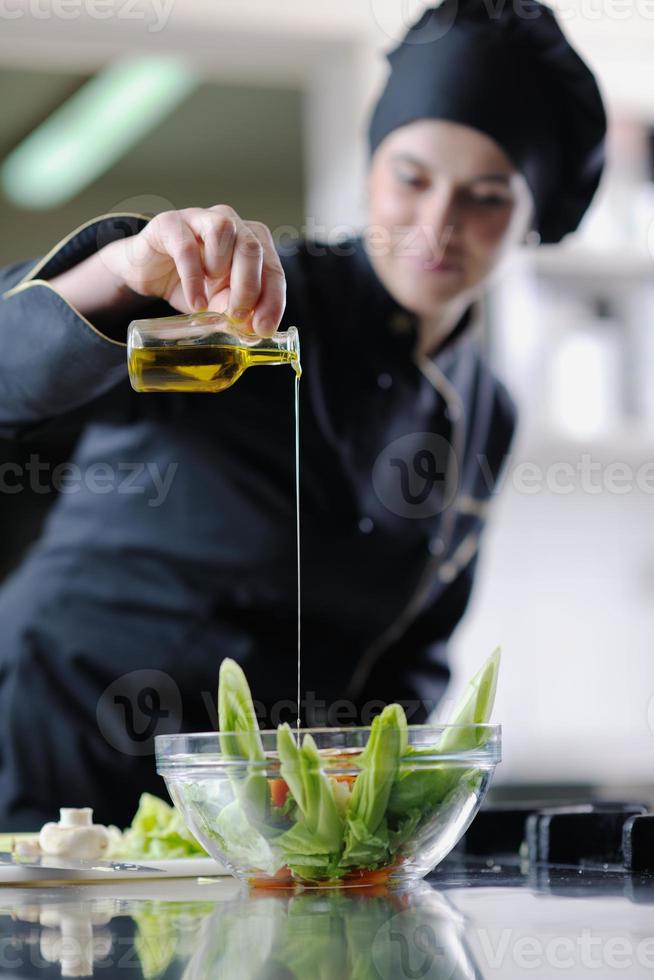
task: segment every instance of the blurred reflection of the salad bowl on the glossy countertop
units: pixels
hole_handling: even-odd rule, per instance
[[[470,980],[481,972],[461,916],[428,886],[287,890],[220,902],[182,980]]]

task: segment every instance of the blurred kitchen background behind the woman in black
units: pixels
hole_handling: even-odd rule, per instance
[[[278,237],[357,227],[382,54],[424,6],[8,0],[0,263],[107,211],[229,203]],[[502,645],[512,792],[654,773],[654,6],[556,9],[602,85],[609,166],[580,233],[512,256],[485,301],[521,427],[452,647],[454,697]],[[64,460],[76,437],[0,442],[0,463]],[[2,495],[0,575],[51,503]]]

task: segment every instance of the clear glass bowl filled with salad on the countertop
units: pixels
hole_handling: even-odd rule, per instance
[[[394,708],[395,706],[393,706]],[[422,878],[460,839],[500,760],[498,725],[159,735],[157,771],[202,846],[256,886]]]

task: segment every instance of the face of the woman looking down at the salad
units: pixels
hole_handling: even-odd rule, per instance
[[[494,140],[436,119],[389,133],[373,154],[368,194],[373,268],[401,305],[423,316],[472,299],[532,214],[524,177]]]

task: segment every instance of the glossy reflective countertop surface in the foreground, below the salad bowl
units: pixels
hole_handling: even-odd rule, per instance
[[[396,890],[248,891],[226,878],[0,888],[0,975],[508,980],[564,965],[610,973],[620,953],[621,975],[638,977],[654,969],[653,904],[652,877],[462,856]]]

